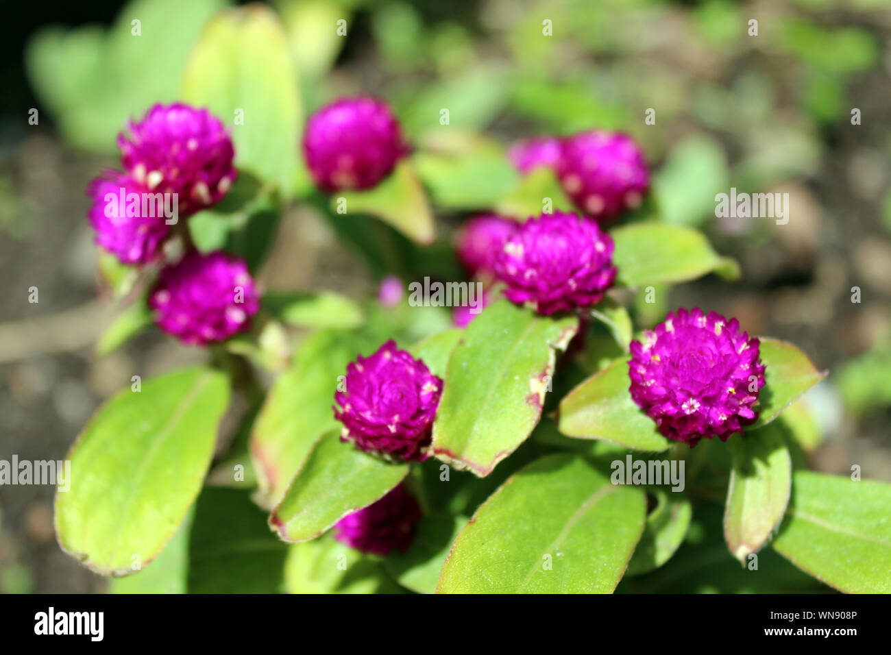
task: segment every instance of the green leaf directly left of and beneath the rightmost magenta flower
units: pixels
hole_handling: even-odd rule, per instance
[[[618,359],[609,364],[560,401],[558,429],[568,437],[607,439],[634,450],[666,450],[668,439],[634,405],[630,386],[628,363]]]

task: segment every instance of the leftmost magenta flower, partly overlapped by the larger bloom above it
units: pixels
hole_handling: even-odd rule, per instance
[[[96,177],[86,188],[93,197],[86,216],[96,231],[96,243],[123,264],[146,264],[158,258],[170,232],[163,209],[154,205],[143,210],[146,191],[142,184],[117,171]],[[127,200],[128,196],[133,199],[132,193],[138,194],[135,203]]]

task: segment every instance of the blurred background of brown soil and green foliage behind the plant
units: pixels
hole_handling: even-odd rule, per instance
[[[47,0],[4,12],[0,459],[61,459],[134,371],[202,357],[157,332],[94,354],[111,310],[97,290],[84,189],[115,166],[127,118],[176,99],[192,43],[225,4]],[[740,282],[709,276],[660,293],[655,306],[638,307],[644,320],[699,305],[737,316],[750,333],[795,341],[830,370],[804,401],[823,439],[813,468],[849,474],[858,464],[864,478],[891,480],[886,0],[272,5],[305,116],[338,95],[371,93],[393,104],[416,143],[443,138],[440,108],[450,110],[450,137],[511,143],[590,127],[634,135],[663,219],[698,226],[743,271]],[[655,125],[644,122],[650,109]],[[788,225],[715,218],[715,193],[731,187],[788,192]],[[446,216],[446,226],[460,219]],[[356,298],[377,284],[326,224],[298,209],[283,218],[261,279]],[[0,592],[106,588],[61,553],[52,502],[52,487],[0,487]]]

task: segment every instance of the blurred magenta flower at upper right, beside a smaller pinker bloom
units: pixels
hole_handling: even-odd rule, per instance
[[[630,136],[601,130],[563,142],[557,176],[576,207],[600,221],[637,207],[650,185],[650,171],[637,143]]]

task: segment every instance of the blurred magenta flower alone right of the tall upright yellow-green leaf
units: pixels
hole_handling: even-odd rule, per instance
[[[316,111],[307,121],[303,151],[316,186],[335,192],[375,186],[408,147],[387,104],[359,97]]]

